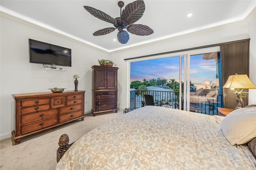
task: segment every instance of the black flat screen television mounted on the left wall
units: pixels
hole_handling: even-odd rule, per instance
[[[71,49],[29,39],[29,61],[71,67]]]

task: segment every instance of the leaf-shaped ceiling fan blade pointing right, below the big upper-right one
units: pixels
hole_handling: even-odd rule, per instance
[[[132,24],[127,27],[127,31],[137,36],[148,36],[154,33],[149,26],[142,24]]]

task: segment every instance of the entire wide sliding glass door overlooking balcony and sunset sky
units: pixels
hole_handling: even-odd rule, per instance
[[[128,64],[131,109],[142,107],[144,94],[153,95],[162,107],[209,115],[216,115],[222,106],[219,47],[135,59]]]

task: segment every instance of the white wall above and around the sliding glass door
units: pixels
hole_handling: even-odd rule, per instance
[[[216,43],[231,42],[236,40],[243,40],[251,38],[250,40],[250,79],[256,85],[256,37],[255,37],[255,15],[254,19],[249,24],[245,22],[237,22],[222,26],[222,28],[208,29],[200,31],[194,34],[179,36],[171,38],[166,41],[161,41],[154,44],[142,45],[135,49],[127,51],[119,51],[110,54],[110,58],[114,61],[120,69],[118,70],[119,75],[127,75],[128,65],[126,58],[150,55],[155,53],[163,53],[168,51],[175,51],[179,49],[186,49],[192,47],[198,47],[203,45],[211,45]],[[149,59],[151,57],[147,57]],[[118,97],[120,97],[120,109],[129,107],[129,95],[127,95],[127,89],[130,86],[129,77],[118,76]],[[256,89],[251,89],[249,93],[249,104],[256,104]]]

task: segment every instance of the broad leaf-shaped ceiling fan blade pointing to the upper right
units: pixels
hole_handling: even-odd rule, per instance
[[[134,1],[126,5],[125,9],[122,11],[122,21],[127,25],[134,24],[138,21],[145,11],[145,3],[143,0]]]

